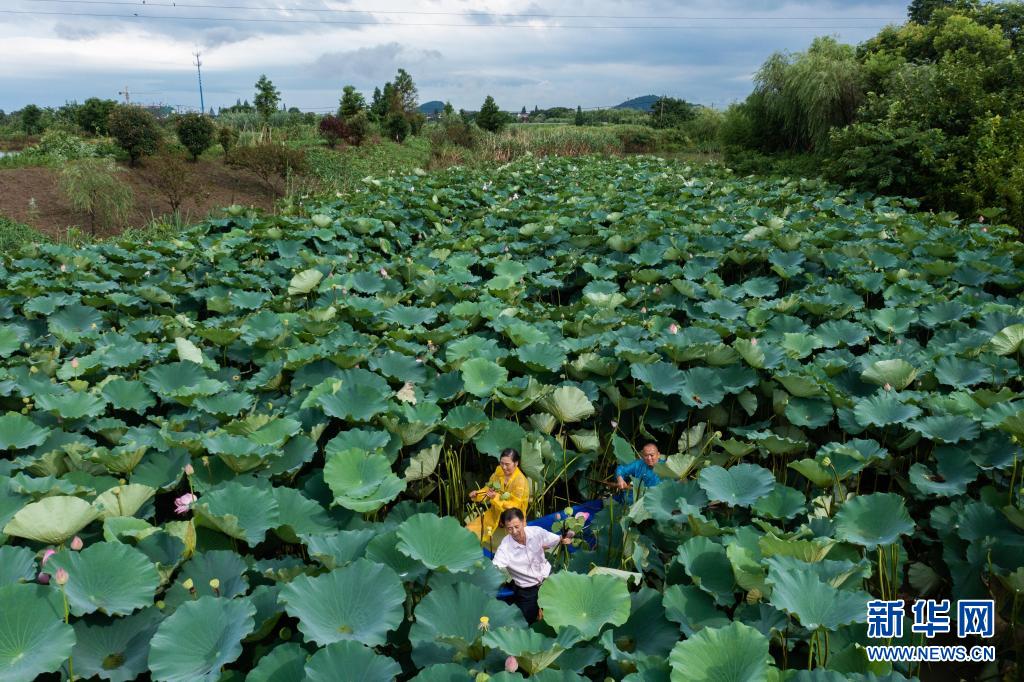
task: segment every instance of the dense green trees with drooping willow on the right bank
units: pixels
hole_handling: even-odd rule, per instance
[[[768,58],[726,112],[727,158],[805,155],[844,184],[1024,227],[1024,3],[908,14],[856,47],[818,38]]]

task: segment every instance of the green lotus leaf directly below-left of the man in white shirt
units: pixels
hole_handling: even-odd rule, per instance
[[[522,613],[468,583],[434,588],[416,607],[416,623],[409,631],[414,643],[428,641],[454,646],[462,656],[480,636],[480,619],[489,619],[492,629],[525,628]]]

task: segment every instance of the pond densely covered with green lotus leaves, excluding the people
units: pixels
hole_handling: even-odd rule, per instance
[[[0,679],[941,676],[863,648],[923,596],[994,599],[1012,679],[1024,250],[914,207],[527,159],[6,258]],[[527,629],[466,492],[647,439]]]

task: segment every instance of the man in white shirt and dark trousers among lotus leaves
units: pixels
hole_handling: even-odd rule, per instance
[[[535,623],[540,615],[537,595],[541,583],[551,574],[551,564],[544,552],[559,543],[568,545],[572,542],[572,532],[563,538],[536,525],[526,525],[522,511],[515,507],[502,512],[501,522],[508,535],[498,546],[494,563],[512,578],[512,603],[522,611],[526,623]]]

